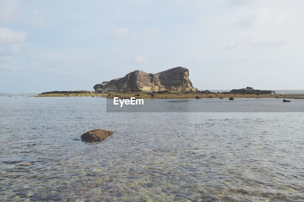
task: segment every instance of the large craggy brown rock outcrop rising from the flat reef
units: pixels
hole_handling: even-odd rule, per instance
[[[189,80],[189,70],[184,67],[175,67],[157,74],[135,70],[123,78],[96,84],[94,89],[107,91],[197,91]]]

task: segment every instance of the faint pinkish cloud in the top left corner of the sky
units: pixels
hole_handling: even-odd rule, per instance
[[[1,0],[0,1],[0,22],[10,23],[20,14],[18,0]]]

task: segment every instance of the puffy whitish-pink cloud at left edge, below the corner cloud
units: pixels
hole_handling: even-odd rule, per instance
[[[8,28],[0,28],[0,45],[23,43],[27,32],[12,31]]]

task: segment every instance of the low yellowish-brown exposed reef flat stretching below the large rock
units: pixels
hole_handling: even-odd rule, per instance
[[[119,97],[119,98],[152,98],[152,99],[190,99],[199,96],[201,98],[283,98],[283,99],[304,99],[304,94],[232,94],[232,93],[211,93],[211,92],[170,92],[170,93],[152,93],[152,92],[108,92],[108,93],[54,93],[40,94],[36,97]],[[153,95],[153,96],[152,96]]]

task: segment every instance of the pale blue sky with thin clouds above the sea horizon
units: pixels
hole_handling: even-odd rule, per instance
[[[302,0],[0,0],[0,92],[94,90],[136,69],[304,89]]]

